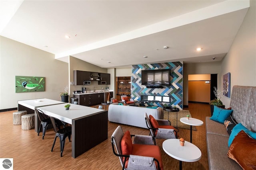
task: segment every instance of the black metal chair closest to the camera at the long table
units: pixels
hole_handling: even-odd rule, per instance
[[[56,133],[54,142],[52,145],[52,151],[53,151],[53,148],[54,148],[54,145],[56,142],[56,138],[59,137],[59,139],[60,139],[60,157],[62,157],[62,152],[64,150],[66,138],[68,137],[68,139],[70,141],[72,128],[71,128],[71,126],[66,126],[66,127],[63,127],[62,129],[58,130],[56,127],[56,120],[58,120],[58,119],[51,117],[51,116],[49,116],[49,117],[52,122],[53,129]]]

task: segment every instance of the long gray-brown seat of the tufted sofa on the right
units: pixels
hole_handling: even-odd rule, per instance
[[[223,124],[222,124],[223,125]],[[225,129],[224,126],[222,129]],[[225,130],[226,131],[226,130]],[[234,160],[228,158],[228,137],[212,133],[206,134],[209,170],[240,170]]]

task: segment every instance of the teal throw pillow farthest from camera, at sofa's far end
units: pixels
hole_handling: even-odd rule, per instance
[[[218,121],[220,123],[224,123],[226,118],[233,112],[233,110],[222,109],[220,107],[214,106],[211,120]]]

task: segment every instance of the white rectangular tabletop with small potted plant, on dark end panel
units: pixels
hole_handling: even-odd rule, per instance
[[[70,104],[69,110],[64,107],[67,103],[57,104],[51,106],[37,107],[44,114],[55,117],[72,125],[72,119],[78,119],[80,117],[86,117],[96,114],[103,109],[96,109],[94,107],[81,106],[77,104]]]

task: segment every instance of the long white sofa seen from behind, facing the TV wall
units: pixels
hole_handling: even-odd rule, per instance
[[[152,115],[155,119],[164,119],[162,107],[151,109],[146,107],[134,107],[110,104],[108,107],[108,120],[125,125],[148,128],[144,114]]]

